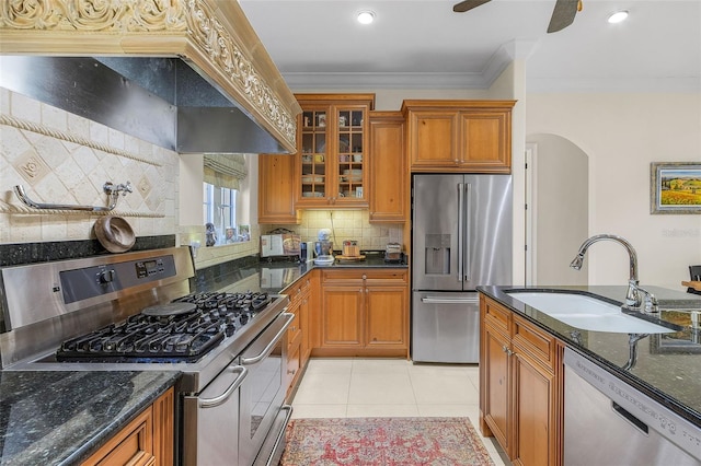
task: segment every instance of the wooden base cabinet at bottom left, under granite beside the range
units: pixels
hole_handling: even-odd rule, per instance
[[[170,388],[82,465],[173,465],[174,416]]]

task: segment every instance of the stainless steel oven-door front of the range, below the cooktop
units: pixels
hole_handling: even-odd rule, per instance
[[[294,317],[280,314],[203,392],[184,397],[184,465],[278,464],[291,415],[281,349]]]

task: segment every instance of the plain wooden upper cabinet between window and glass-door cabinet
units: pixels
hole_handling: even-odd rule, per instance
[[[295,166],[294,155],[258,155],[258,223],[301,222],[295,206]]]

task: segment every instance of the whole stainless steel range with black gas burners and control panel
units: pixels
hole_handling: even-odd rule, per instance
[[[179,371],[179,464],[277,465],[289,300],[193,277],[186,247],[0,269],[2,369]]]

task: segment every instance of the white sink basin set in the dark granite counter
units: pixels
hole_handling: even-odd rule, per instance
[[[547,291],[506,294],[562,323],[584,330],[621,334],[663,334],[677,330],[624,314],[619,306],[590,295]]]

